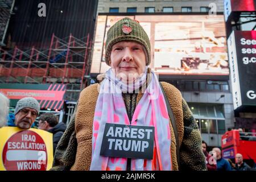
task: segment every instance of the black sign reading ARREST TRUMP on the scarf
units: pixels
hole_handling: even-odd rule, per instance
[[[152,159],[155,128],[106,123],[101,144],[103,156]]]

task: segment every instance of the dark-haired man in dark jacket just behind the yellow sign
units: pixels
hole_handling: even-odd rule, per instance
[[[55,154],[57,144],[66,128],[63,122],[58,122],[58,118],[53,113],[40,115],[38,129],[46,130],[53,134],[53,154]]]

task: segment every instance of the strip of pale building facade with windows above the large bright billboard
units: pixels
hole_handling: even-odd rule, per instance
[[[99,0],[98,13],[206,12],[213,3],[217,12],[223,12],[222,0]]]

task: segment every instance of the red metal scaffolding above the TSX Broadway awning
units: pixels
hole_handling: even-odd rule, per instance
[[[53,34],[48,49],[0,48],[0,82],[67,84],[65,99],[76,101],[88,85],[91,47],[89,34],[81,39]]]

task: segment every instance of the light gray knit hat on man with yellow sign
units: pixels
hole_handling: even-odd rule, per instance
[[[24,98],[20,99],[16,104],[14,114],[16,115],[21,109],[23,109],[25,107],[35,109],[39,114],[40,105],[39,105],[38,101],[33,97],[24,97]]]

